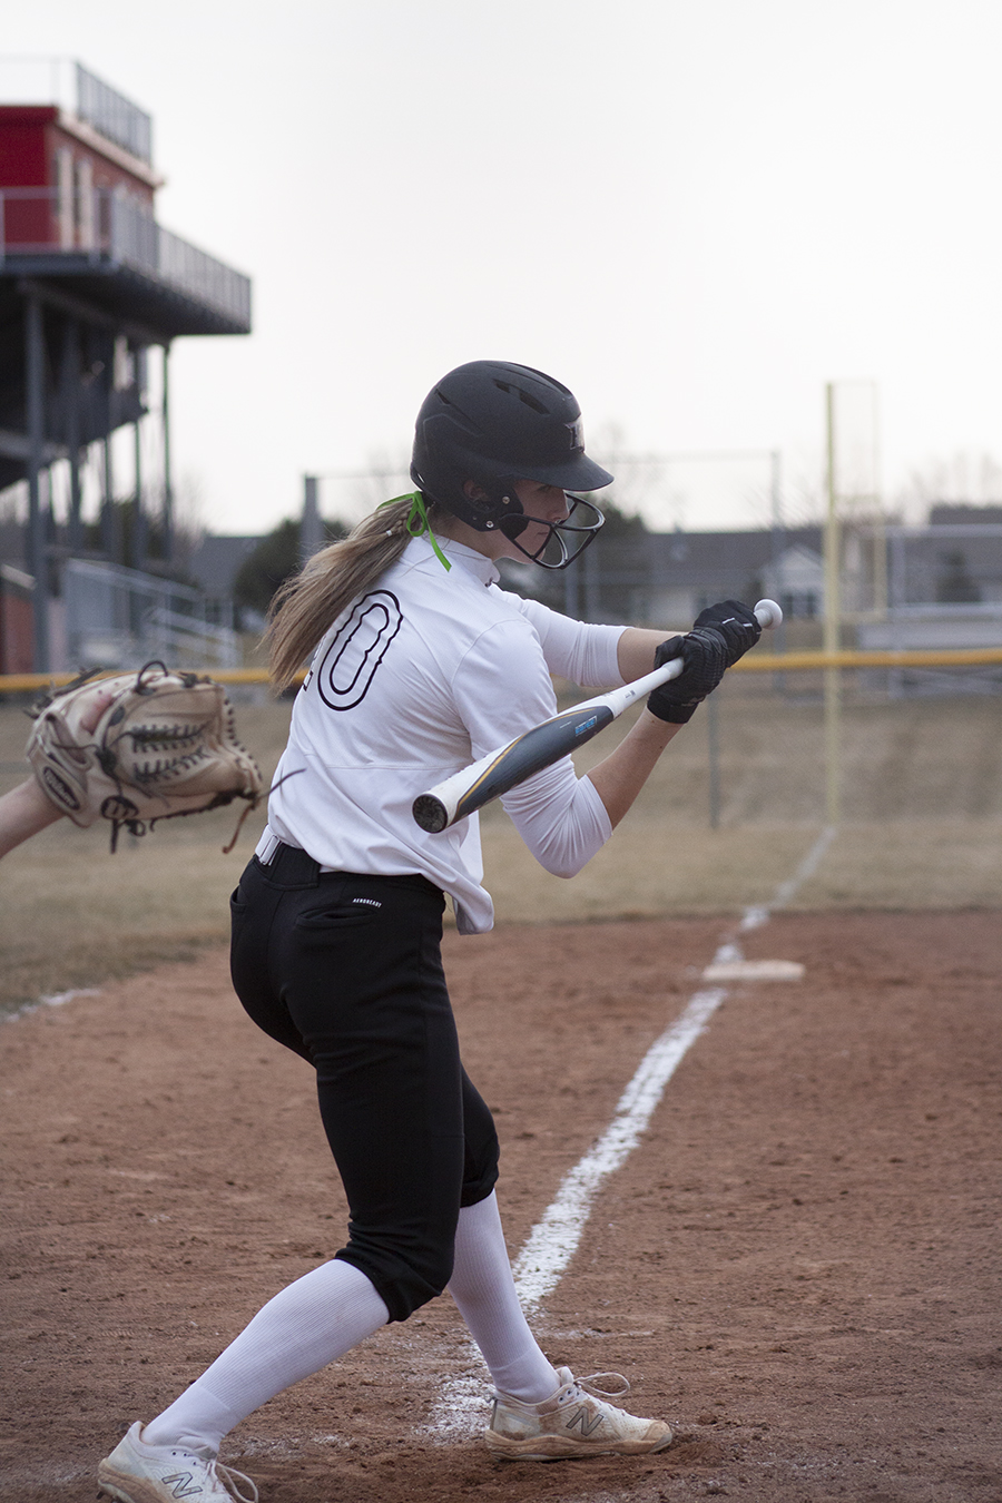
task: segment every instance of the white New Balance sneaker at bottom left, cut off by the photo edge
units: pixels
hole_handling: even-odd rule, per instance
[[[98,1467],[98,1486],[117,1503],[258,1503],[257,1488],[242,1471],[221,1465],[207,1450],[186,1446],[147,1446],[137,1423]],[[240,1492],[246,1482],[249,1492]]]

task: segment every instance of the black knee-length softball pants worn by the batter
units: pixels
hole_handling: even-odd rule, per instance
[[[460,1063],[443,909],[424,876],[320,872],[290,846],[254,857],[231,899],[237,996],[317,1072],[350,1213],[337,1257],[391,1320],[442,1294],[460,1207],[497,1180],[494,1123]]]

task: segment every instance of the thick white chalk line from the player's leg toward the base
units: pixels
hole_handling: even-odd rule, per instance
[[[602,1136],[569,1171],[541,1220],[529,1232],[512,1269],[527,1315],[560,1282],[581,1241],[595,1195],[640,1142],[665,1085],[726,995],[721,987],[715,987],[690,998],[685,1012],[665,1028],[641,1060]]]

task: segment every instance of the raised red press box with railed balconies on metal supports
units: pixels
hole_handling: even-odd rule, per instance
[[[170,568],[167,356],[182,335],[248,334],[251,283],[156,222],[153,198],[162,179],[153,168],[146,111],[80,63],[23,62],[41,65],[24,89],[6,92],[0,66],[0,490],[29,484],[32,652],[36,667],[48,670],[62,609],[53,603],[62,598],[68,556],[141,574],[156,522],[158,567]],[[156,347],[159,415],[147,395]],[[161,421],[164,460],[162,476],[150,484],[140,475],[138,434],[153,416]],[[110,449],[111,434],[126,425],[135,430],[128,546]],[[102,541],[95,550],[86,547],[80,476],[101,451]],[[68,466],[71,493],[59,538],[45,485],[54,464]],[[156,519],[147,493],[161,497]],[[8,615],[0,627],[8,642],[12,633],[20,640],[20,612]],[[132,615],[141,615],[138,607]],[[69,622],[66,633],[75,651],[83,625]]]

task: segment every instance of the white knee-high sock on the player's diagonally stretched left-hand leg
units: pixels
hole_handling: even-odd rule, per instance
[[[236,1341],[143,1431],[150,1446],[209,1446],[266,1399],[343,1357],[389,1320],[365,1275],[323,1263],[263,1306]]]

